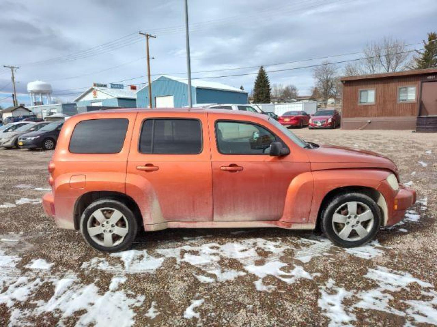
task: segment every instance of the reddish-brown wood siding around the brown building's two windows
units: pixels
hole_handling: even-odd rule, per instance
[[[392,78],[348,80],[343,84],[342,115],[352,117],[399,117],[417,116],[422,75],[407,75]],[[399,87],[415,86],[416,101],[398,103]],[[375,104],[359,104],[359,91],[375,89]]]

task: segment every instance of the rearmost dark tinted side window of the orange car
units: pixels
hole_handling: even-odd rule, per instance
[[[129,120],[92,119],[78,123],[71,135],[71,153],[118,153],[125,143]]]

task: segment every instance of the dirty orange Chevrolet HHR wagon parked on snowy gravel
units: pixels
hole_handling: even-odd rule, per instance
[[[105,252],[164,228],[320,227],[355,247],[416,201],[388,158],[305,142],[269,116],[233,110],[73,116],[49,172],[45,212]]]

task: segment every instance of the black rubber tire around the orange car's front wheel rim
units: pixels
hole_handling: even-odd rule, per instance
[[[342,207],[342,205],[347,205],[348,202],[354,202],[354,201],[358,202],[359,203],[358,205],[361,206],[361,204],[364,204],[365,206],[368,207],[368,209],[370,209],[371,213],[373,214],[373,223],[372,225],[367,225],[367,228],[369,230],[368,230],[368,234],[365,237],[357,240],[348,241],[343,238],[340,238],[340,236],[337,235],[337,233],[334,231],[333,215],[334,213],[336,213],[338,208]],[[349,215],[349,212],[347,213],[347,215]],[[354,248],[357,246],[361,246],[371,241],[373,238],[375,238],[375,235],[378,233],[379,227],[381,226],[382,215],[378,205],[375,203],[375,201],[372,198],[362,193],[353,192],[353,193],[340,194],[332,198],[326,204],[326,207],[322,212],[321,219],[322,219],[321,225],[322,225],[323,232],[334,244],[341,246],[343,248]],[[351,220],[352,224],[354,224],[353,219],[354,218],[352,218]],[[349,225],[349,222],[347,222],[347,224]],[[360,222],[360,224],[364,224],[364,223]],[[368,224],[370,224],[370,222]],[[340,226],[342,226],[342,224],[340,224]],[[346,227],[346,225],[344,224],[343,226]],[[353,235],[353,233],[354,232],[352,232],[350,235]],[[357,234],[357,232],[355,232],[355,234],[357,235],[356,237],[360,237]]]

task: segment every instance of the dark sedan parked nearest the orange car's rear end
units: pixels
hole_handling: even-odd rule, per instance
[[[30,132],[18,137],[18,146],[23,149],[53,150],[58,140],[64,122],[52,122],[38,131]],[[91,141],[91,140],[90,140]]]

